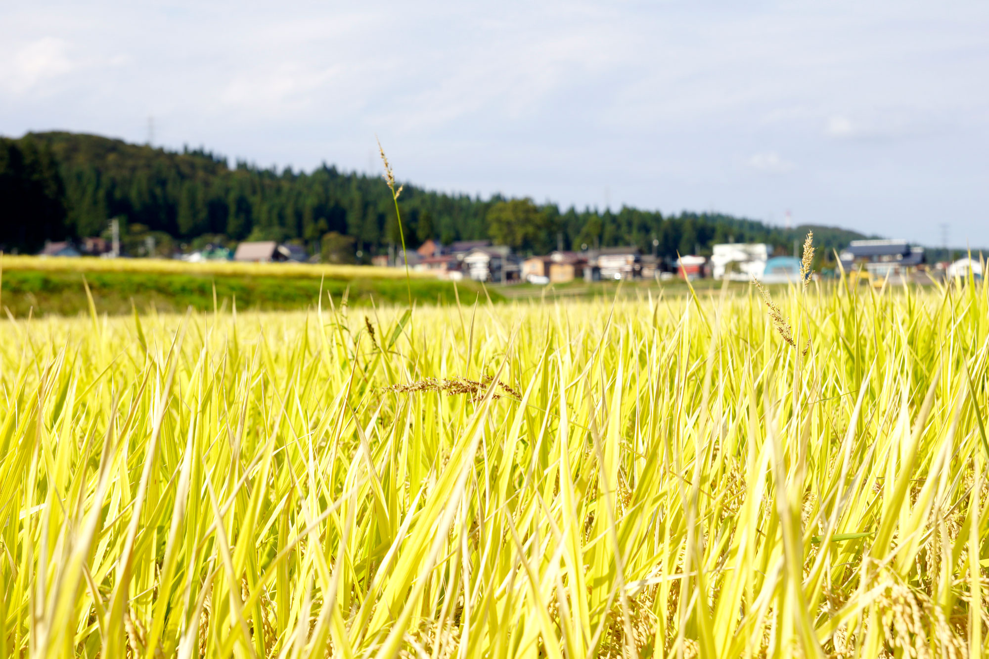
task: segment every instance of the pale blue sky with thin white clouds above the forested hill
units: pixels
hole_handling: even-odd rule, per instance
[[[989,245],[989,3],[0,7],[0,134]]]

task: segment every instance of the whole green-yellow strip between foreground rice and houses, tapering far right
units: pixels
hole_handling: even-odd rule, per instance
[[[0,305],[15,317],[29,314],[75,316],[89,313],[85,279],[97,313],[130,314],[155,310],[182,313],[217,308],[231,310],[234,301],[240,311],[287,311],[315,306],[320,289],[337,303],[344,293],[353,306],[407,304],[409,292],[418,304],[454,304],[459,295],[463,304],[475,300],[499,303],[506,300],[610,301],[648,300],[650,296],[676,297],[690,289],[674,280],[593,282],[573,281],[552,286],[530,284],[484,287],[470,280],[453,282],[411,273],[406,284],[402,268],[359,266],[308,266],[291,264],[199,263],[154,259],[40,259],[3,257]],[[721,286],[713,280],[693,284],[700,294]],[[214,297],[216,288],[216,297]],[[456,288],[456,291],[454,290]],[[747,294],[748,283],[732,283],[733,294]]]

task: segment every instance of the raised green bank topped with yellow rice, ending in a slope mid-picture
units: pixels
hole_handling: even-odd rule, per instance
[[[10,256],[0,253],[0,318],[9,312],[28,316],[76,316],[88,313],[86,289],[97,313],[130,315],[151,308],[183,313],[188,307],[214,306],[240,311],[306,309],[320,293],[350,306],[399,302],[453,303],[459,295],[473,300],[483,293],[494,302],[497,291],[483,291],[474,281],[454,283],[405,268],[304,263],[246,263],[173,259]]]

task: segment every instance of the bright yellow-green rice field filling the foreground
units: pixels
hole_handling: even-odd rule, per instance
[[[0,657],[981,656],[987,293],[11,318]]]

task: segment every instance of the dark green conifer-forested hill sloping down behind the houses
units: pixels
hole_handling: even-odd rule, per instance
[[[652,253],[655,239],[660,256],[675,257],[735,240],[788,253],[813,229],[825,248],[818,253],[833,257],[832,247],[864,237],[830,227],[782,230],[721,214],[561,211],[528,199],[447,195],[407,184],[400,204],[409,247],[430,237],[492,238],[521,252],[545,253],[562,241],[565,249],[631,244]],[[37,251],[45,239],[101,235],[114,217],[135,255],[144,244],[165,254],[176,243],[272,239],[300,240],[333,260],[353,260],[360,250],[367,261],[400,241],[388,188],[375,176],[325,164],[310,173],[241,161],[231,169],[203,149],[179,153],[92,135],[0,138],[0,246],[8,252]]]

